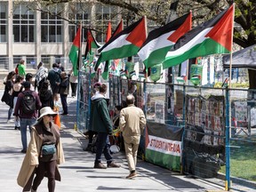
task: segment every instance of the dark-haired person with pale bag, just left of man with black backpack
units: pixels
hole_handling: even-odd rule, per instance
[[[15,79],[15,84],[13,84],[12,86],[12,90],[11,90],[11,95],[12,95],[12,98],[13,98],[13,108],[15,109],[16,107],[16,103],[17,103],[17,100],[18,100],[18,95],[20,94],[20,92],[23,91],[23,77],[22,76],[16,76],[16,79]],[[14,124],[15,124],[15,130],[20,130],[20,118],[15,118],[14,117]]]

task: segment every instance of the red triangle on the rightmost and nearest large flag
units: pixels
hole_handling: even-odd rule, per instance
[[[220,19],[220,21],[205,36],[209,36],[214,41],[228,49],[229,52],[231,52],[232,49],[232,28],[234,22],[234,8],[234,4],[232,4],[228,8],[228,11]]]

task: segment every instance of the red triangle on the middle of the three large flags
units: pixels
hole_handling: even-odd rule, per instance
[[[192,28],[192,12],[189,13],[188,18],[185,20],[185,22],[180,25],[180,28],[175,30],[171,36],[169,36],[167,39],[169,41],[172,41],[173,43],[176,43],[177,40],[180,38],[180,36],[183,36],[186,34],[189,30]]]

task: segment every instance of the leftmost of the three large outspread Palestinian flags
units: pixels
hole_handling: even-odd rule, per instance
[[[100,58],[95,69],[98,68],[100,62],[105,60],[122,59],[137,54],[146,37],[146,20],[143,17],[116,36],[111,37],[108,43],[98,50]]]

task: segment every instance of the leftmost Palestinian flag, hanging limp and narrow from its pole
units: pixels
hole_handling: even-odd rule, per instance
[[[68,54],[68,57],[71,60],[73,65],[74,76],[78,76],[77,67],[79,67],[79,54],[81,49],[81,28],[82,28],[82,25],[80,25],[79,28],[77,29],[75,39],[73,41],[70,52]]]

